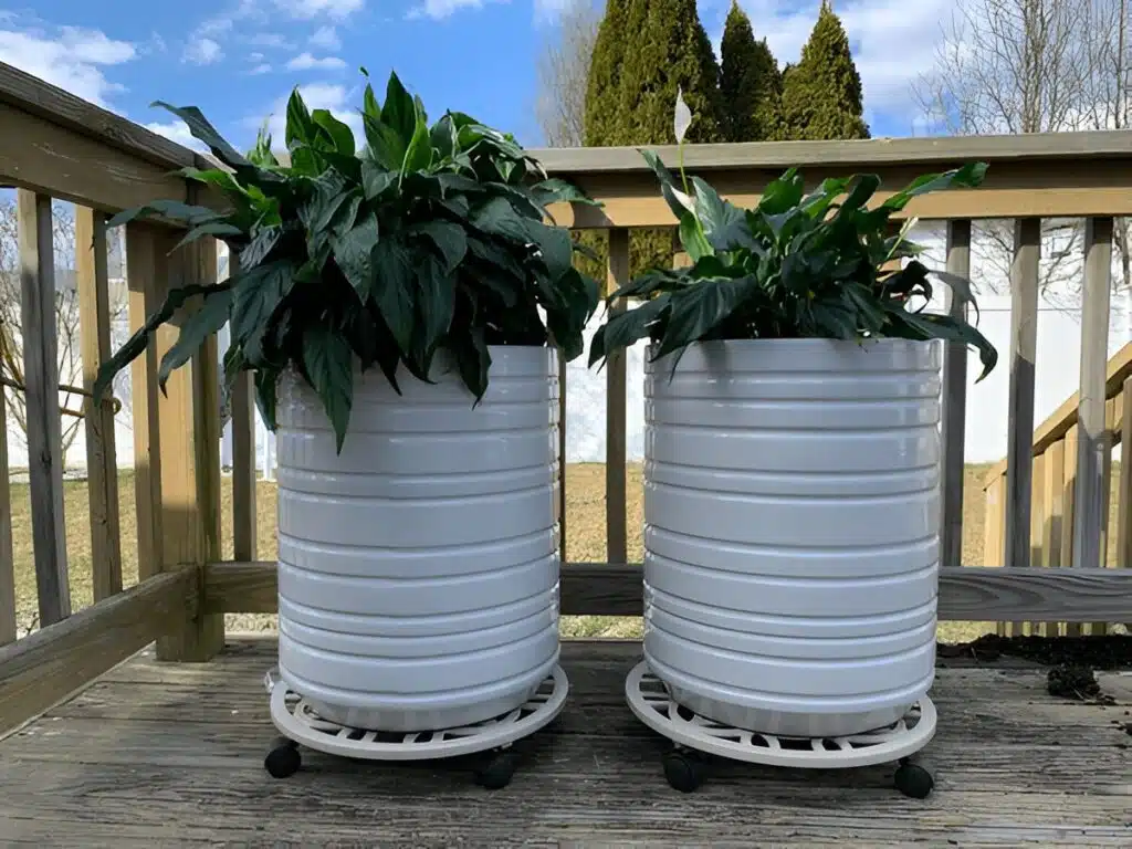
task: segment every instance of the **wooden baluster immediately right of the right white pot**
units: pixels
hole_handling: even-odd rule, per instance
[[[971,222],[947,222],[947,271],[961,277],[971,274]],[[966,318],[967,305],[947,289],[947,312]],[[940,558],[962,563],[963,552],[963,452],[967,432],[967,346],[944,343],[943,355],[943,523],[940,529]]]

